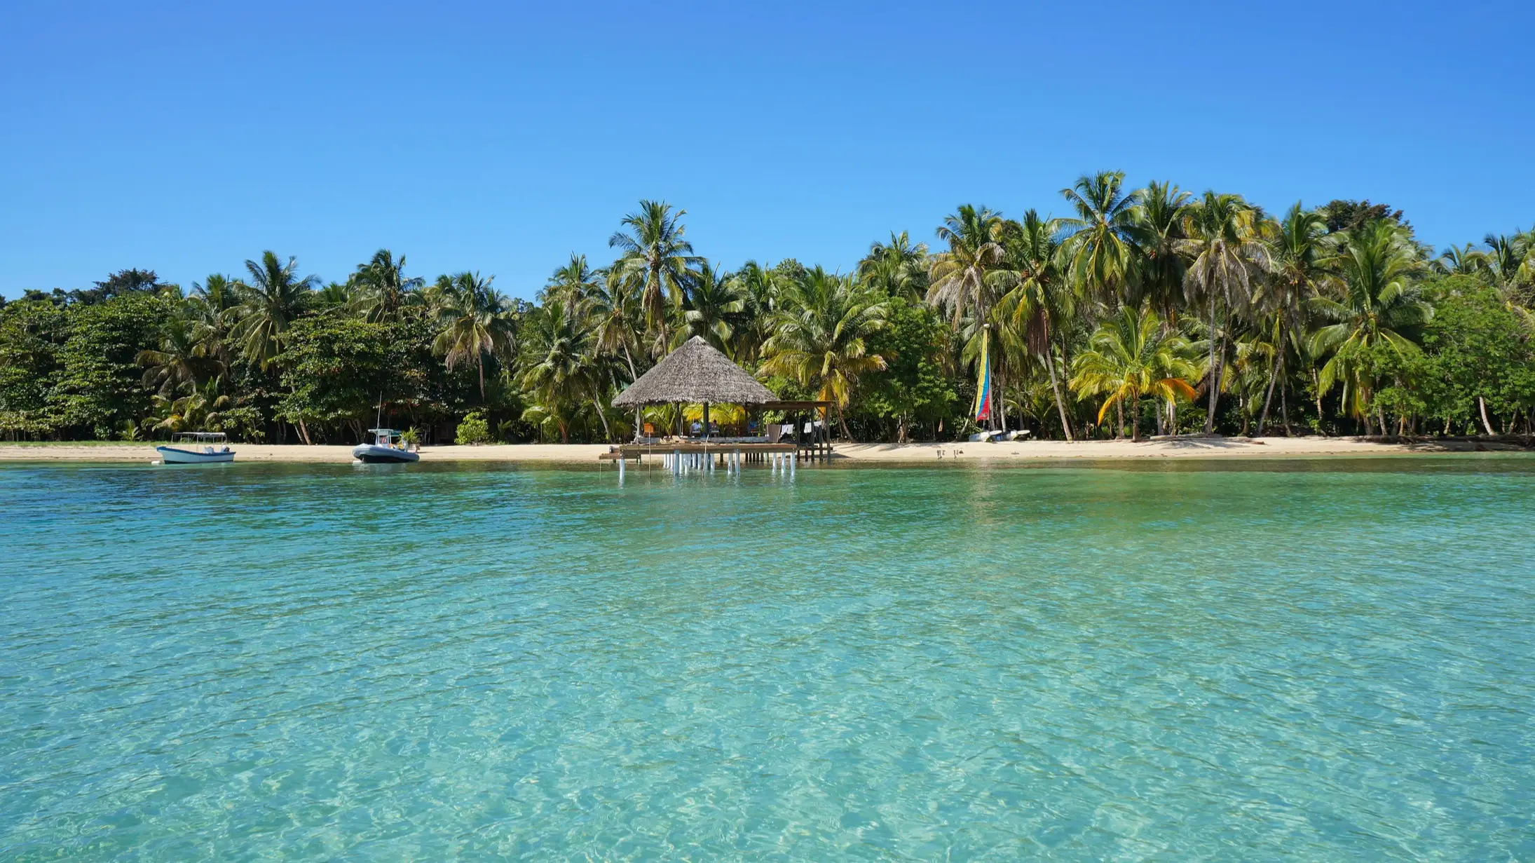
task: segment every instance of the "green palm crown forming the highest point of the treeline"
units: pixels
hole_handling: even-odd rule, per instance
[[[1062,218],[1068,233],[1062,253],[1067,273],[1082,286],[1084,293],[1102,301],[1124,293],[1137,264],[1141,226],[1141,192],[1125,192],[1122,170],[1082,175],[1061,195],[1076,212]]]

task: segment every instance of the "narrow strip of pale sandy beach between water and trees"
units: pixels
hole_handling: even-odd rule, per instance
[[[236,462],[350,464],[350,445],[232,444]],[[496,444],[422,447],[422,462],[545,462],[596,465],[608,444]],[[964,461],[1113,461],[1408,456],[1444,453],[1523,453],[1494,441],[1378,442],[1362,438],[1167,438],[1154,441],[1013,441],[998,444],[834,444],[834,464]],[[154,444],[0,442],[0,462],[155,461]]]

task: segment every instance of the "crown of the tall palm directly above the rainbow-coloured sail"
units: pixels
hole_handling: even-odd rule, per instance
[[[949,244],[949,250],[930,258],[927,301],[947,307],[956,329],[966,316],[985,321],[996,304],[993,273],[1005,256],[1002,215],[959,204],[956,213],[944,217],[938,238]]]

